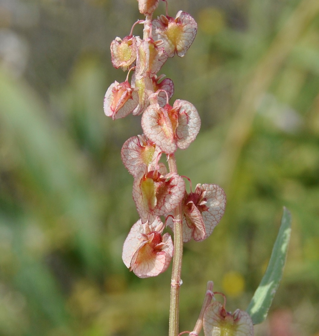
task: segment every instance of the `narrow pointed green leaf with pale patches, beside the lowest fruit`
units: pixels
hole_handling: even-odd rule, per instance
[[[246,310],[250,315],[253,324],[259,324],[267,317],[268,310],[282,278],[288,251],[290,233],[291,215],[290,212],[284,207],[279,233],[270,257],[267,270]]]

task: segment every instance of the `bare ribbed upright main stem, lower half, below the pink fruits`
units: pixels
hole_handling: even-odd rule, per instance
[[[177,173],[177,166],[174,154],[171,154],[169,156],[168,166],[171,173]],[[181,286],[182,257],[182,204],[180,203],[179,206],[174,210],[174,254],[171,280],[169,336],[178,335],[179,288]]]

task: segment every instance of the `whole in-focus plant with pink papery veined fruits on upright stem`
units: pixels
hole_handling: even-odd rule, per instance
[[[167,3],[166,15],[153,19],[158,2],[138,0],[139,11],[145,19],[138,20],[128,36],[116,37],[111,43],[113,66],[128,74],[124,82],[115,81],[107,89],[104,112],[113,120],[130,113],[142,115],[143,134],[129,138],[121,150],[122,162],[134,177],[133,199],[140,216],[124,242],[122,259],[140,278],[161,274],[173,259],[169,336],[177,336],[183,243],[191,239],[202,241],[212,234],[224,214],[226,196],[216,184],[197,184],[192,191],[191,181],[178,175],[175,152],[187,149],[195,140],[201,120],[192,103],[182,99],[169,103],[174,93],[173,81],[158,72],[169,57],[185,55],[196,36],[197,23],[183,11],[175,17],[169,16]],[[143,38],[133,35],[136,24],[144,25]],[[160,162],[162,155],[166,156],[168,167]],[[185,179],[190,184],[189,193],[185,190]],[[167,226],[173,230],[174,242],[169,233],[163,234]],[[289,239],[289,234],[287,237]],[[285,253],[282,256],[284,259]],[[276,279],[270,272],[268,280],[273,280],[269,287],[272,291],[266,295],[257,293],[250,313],[239,309],[233,314],[227,312],[224,294],[213,292],[213,283],[209,281],[196,326],[193,331],[183,333],[197,336],[203,327],[205,336],[253,335],[254,321],[250,315],[256,321],[255,316],[260,312],[266,311],[267,315],[270,304],[261,308],[260,302],[264,301],[260,298],[263,295],[271,302],[282,267]],[[214,301],[216,294],[222,295],[223,304]]]

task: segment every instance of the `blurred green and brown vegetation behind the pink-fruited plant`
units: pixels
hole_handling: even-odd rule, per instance
[[[318,335],[319,1],[168,3],[199,27],[161,71],[202,119],[179,173],[227,195],[214,234],[185,245],[180,331],[208,280],[228,310],[246,309],[286,206],[284,278],[255,333]],[[170,269],[141,280],[121,260],[138,214],[120,149],[140,117],[113,122],[102,108],[126,77],[110,42],[139,18],[135,0],[0,0],[1,336],[168,334]]]

